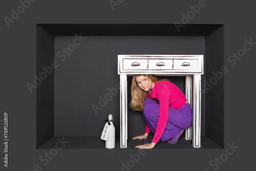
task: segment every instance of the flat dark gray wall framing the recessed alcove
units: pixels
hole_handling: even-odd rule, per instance
[[[255,96],[251,77],[255,62],[255,47],[231,66],[226,61],[232,53],[243,48],[244,39],[256,41],[255,10],[251,1],[206,1],[206,6],[190,20],[189,24],[225,25],[225,147],[224,149],[150,149],[131,170],[213,170],[209,161],[220,157],[234,142],[240,146],[233,155],[219,165],[218,170],[241,170],[253,167],[255,138],[251,115]],[[181,22],[181,14],[197,5],[198,1],[124,1],[115,7],[108,1],[36,1],[19,18],[6,26],[1,22],[1,117],[9,114],[9,167],[3,170],[32,170],[35,164],[42,170],[121,170],[121,162],[131,159],[138,149],[58,151],[43,165],[38,158],[49,149],[36,149],[35,116],[36,96],[30,94],[26,83],[33,82],[36,73],[36,24],[172,24]],[[11,9],[20,6],[18,1],[1,5],[1,16],[11,15]],[[34,91],[35,92],[35,91]],[[214,102],[213,102],[214,104]],[[3,135],[3,122],[1,122]],[[0,145],[3,157],[3,144]],[[2,158],[3,160],[3,158]]]

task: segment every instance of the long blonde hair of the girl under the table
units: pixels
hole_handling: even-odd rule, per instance
[[[131,90],[131,96],[132,100],[130,102],[130,107],[132,108],[133,111],[141,111],[143,112],[144,108],[144,101],[147,96],[147,92],[142,90],[136,81],[136,78],[141,75],[134,75],[132,79],[132,90]],[[170,81],[168,79],[162,79],[162,78],[157,78],[154,75],[143,75],[148,79],[150,79],[152,82],[156,83],[159,81]],[[150,94],[150,89],[148,90],[148,93]]]

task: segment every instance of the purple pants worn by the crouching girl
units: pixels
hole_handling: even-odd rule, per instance
[[[143,117],[146,124],[150,127],[151,131],[155,134],[157,122],[159,119],[159,102],[146,98],[144,102]],[[161,136],[161,141],[167,141],[182,130],[186,130],[192,123],[192,111],[189,103],[186,103],[180,109],[175,110],[169,107],[168,121],[165,130]]]

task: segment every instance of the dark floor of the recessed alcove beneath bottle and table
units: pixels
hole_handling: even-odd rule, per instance
[[[100,137],[53,137],[46,143],[39,146],[37,149],[50,149],[56,148],[56,143],[59,142],[59,139],[64,141],[69,141],[65,143],[63,149],[106,149],[105,148],[105,141],[101,140]],[[147,139],[142,140],[132,140],[132,137],[128,137],[127,139],[127,148],[134,148],[136,145],[150,143],[153,137],[149,137]],[[58,144],[60,148],[62,145],[61,143]],[[115,149],[127,149],[120,147],[120,137],[116,137],[116,144]],[[179,141],[176,144],[169,144],[167,141],[165,142],[158,142],[155,149],[194,149],[192,146],[192,140],[185,140],[184,135],[181,135]],[[222,149],[220,145],[215,143],[214,141],[210,140],[205,136],[201,136],[201,149]],[[198,149],[198,148],[197,148]]]

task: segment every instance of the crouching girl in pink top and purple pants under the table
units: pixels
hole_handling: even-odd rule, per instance
[[[145,134],[132,139],[146,139],[150,130],[154,133],[151,143],[136,148],[154,148],[160,141],[177,143],[183,130],[192,123],[192,111],[182,91],[168,79],[154,75],[134,75],[132,80],[133,111],[141,111],[146,121]]]

